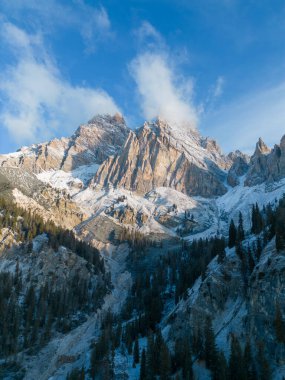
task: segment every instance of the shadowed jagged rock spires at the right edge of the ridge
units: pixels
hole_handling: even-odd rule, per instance
[[[254,155],[250,161],[250,170],[245,185],[254,186],[263,182],[279,181],[285,177],[285,135],[280,145],[270,150],[259,139]]]

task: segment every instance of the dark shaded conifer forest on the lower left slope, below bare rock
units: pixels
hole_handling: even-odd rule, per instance
[[[52,328],[69,331],[76,326],[71,316],[96,310],[105,293],[102,289],[102,294],[97,292],[98,297],[94,298],[88,291],[87,280],[79,281],[76,277],[66,280],[56,290],[46,282],[37,292],[33,285],[20,291],[21,277],[21,273],[0,273],[1,357],[24,348],[43,346],[49,341]]]

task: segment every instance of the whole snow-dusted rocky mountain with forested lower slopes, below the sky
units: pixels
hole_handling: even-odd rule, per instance
[[[284,157],[120,115],[0,156],[0,377],[281,380]]]

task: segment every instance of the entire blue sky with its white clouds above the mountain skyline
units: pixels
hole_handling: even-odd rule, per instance
[[[96,113],[187,122],[225,152],[285,133],[285,3],[1,0],[0,152]]]

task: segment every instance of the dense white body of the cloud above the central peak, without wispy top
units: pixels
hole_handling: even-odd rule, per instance
[[[196,128],[197,114],[191,101],[193,83],[175,76],[167,56],[143,53],[130,65],[145,118],[160,116],[179,125]]]

